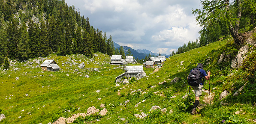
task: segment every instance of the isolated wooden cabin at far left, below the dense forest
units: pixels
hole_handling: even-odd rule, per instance
[[[44,71],[59,71],[60,67],[59,65],[51,59],[46,59],[45,62],[43,62],[40,67]]]

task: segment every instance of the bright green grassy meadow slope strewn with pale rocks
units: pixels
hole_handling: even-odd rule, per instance
[[[250,47],[255,50],[255,47]],[[57,72],[42,71],[38,67],[40,63],[36,64],[34,59],[28,62],[12,62],[9,71],[0,72],[0,114],[6,115],[6,119],[0,123],[48,124],[59,117],[68,118],[73,114],[86,113],[87,108],[91,106],[102,110],[100,104],[103,103],[108,110],[107,115],[77,118],[74,124],[83,124],[84,121],[95,124],[251,124],[252,119],[256,118],[256,67],[253,64],[255,59],[252,62],[245,60],[252,65],[248,66],[250,68],[232,69],[231,60],[235,58],[238,49],[239,46],[233,44],[232,38],[226,37],[204,47],[167,58],[160,71],[155,73],[152,68],[144,68],[149,77],[130,84],[119,83],[118,87],[115,87],[115,77],[123,73],[123,67],[109,65],[107,62],[110,61],[110,57],[102,53],[95,53],[93,59],[79,54],[51,54],[50,57],[43,58],[54,59],[61,68],[61,71]],[[230,58],[217,64],[224,51],[230,54]],[[255,52],[251,54],[255,56]],[[250,58],[250,55],[248,57]],[[43,62],[42,58],[37,59]],[[184,61],[182,65],[181,61]],[[28,65],[29,62],[33,64]],[[78,68],[81,62],[85,63],[83,69]],[[182,97],[189,92],[187,75],[199,62],[205,65],[206,71],[211,71],[210,86],[208,82],[204,85],[205,89],[210,87],[211,105],[205,100],[209,94],[203,92],[199,100],[199,114],[190,115],[194,94],[190,92],[189,101],[187,97]],[[95,68],[99,71],[94,71]],[[85,75],[90,77],[84,77]],[[16,80],[16,77],[19,79]],[[175,77],[179,78],[178,82],[171,83]],[[166,83],[158,85],[163,81]],[[241,94],[234,97],[234,92],[244,83],[247,85]],[[156,87],[151,88],[152,86]],[[97,90],[100,92],[97,93]],[[224,90],[229,94],[220,100],[220,93]],[[127,100],[130,102],[125,103]],[[167,111],[149,111],[152,106],[160,106]],[[234,114],[238,111],[240,114]],[[142,112],[148,114],[148,117],[139,119],[134,116]],[[120,118],[124,118],[125,121]],[[95,121],[96,119],[100,121]]]

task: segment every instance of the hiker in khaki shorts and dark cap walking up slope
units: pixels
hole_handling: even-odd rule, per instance
[[[190,86],[195,90],[195,93],[196,93],[196,100],[194,102],[194,107],[193,107],[192,112],[191,112],[192,115],[197,114],[196,107],[199,104],[199,97],[202,95],[202,88],[203,88],[203,85],[204,85],[204,81],[205,80],[210,80],[210,74],[211,74],[210,71],[207,71],[207,74],[205,73],[203,64],[201,64],[201,63],[198,63],[198,65],[194,69],[199,69],[199,71],[200,71],[199,79],[200,80],[199,80],[199,82],[197,82],[199,84],[190,84],[190,82],[188,81]],[[194,70],[194,69],[192,69],[192,70]],[[190,73],[191,73],[191,71],[190,71]],[[189,77],[190,77],[190,75],[187,78],[189,79]]]

